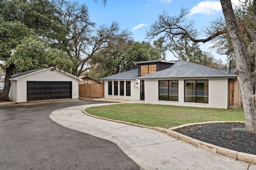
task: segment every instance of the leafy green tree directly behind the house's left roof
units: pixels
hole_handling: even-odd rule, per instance
[[[96,53],[94,61],[97,64],[87,74],[98,79],[137,68],[136,61],[158,60],[160,57],[159,49],[149,42],[119,39]]]

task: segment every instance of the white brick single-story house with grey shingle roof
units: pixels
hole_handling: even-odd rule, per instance
[[[100,78],[105,98],[144,100],[146,104],[228,108],[234,69],[214,69],[186,61],[141,61],[138,68]]]

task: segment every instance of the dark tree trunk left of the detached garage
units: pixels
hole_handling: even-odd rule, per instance
[[[16,66],[13,63],[11,63],[10,66],[6,68],[6,75],[4,78],[4,89],[1,98],[1,100],[3,101],[10,101],[9,92],[11,88],[11,81],[9,80],[9,78],[11,78],[15,67]]]

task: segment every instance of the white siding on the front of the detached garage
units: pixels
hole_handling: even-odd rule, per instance
[[[47,69],[35,74],[21,77],[17,81],[18,88],[16,94],[19,96],[19,98],[17,98],[16,101],[13,100],[15,102],[27,102],[27,81],[72,82],[72,99],[78,98],[78,79],[58,70],[51,71],[51,69]]]

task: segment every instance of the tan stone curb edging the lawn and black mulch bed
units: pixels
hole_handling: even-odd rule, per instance
[[[205,124],[205,123],[229,123],[229,122],[244,123],[244,122],[241,122],[241,121],[210,121],[210,122],[202,122],[202,123],[189,123],[189,124],[185,124],[185,125],[172,127],[170,129],[165,129],[165,128],[162,128],[162,127],[150,127],[150,126],[139,125],[139,124],[130,123],[130,122],[126,122],[126,121],[118,121],[118,120],[114,120],[114,119],[107,119],[105,117],[99,117],[99,116],[91,115],[90,113],[87,113],[85,110],[83,110],[83,113],[85,113],[88,116],[95,117],[95,118],[98,118],[98,119],[104,119],[104,120],[108,120],[108,121],[114,121],[114,122],[117,122],[117,123],[124,123],[124,124],[127,124],[127,125],[133,125],[133,126],[138,126],[138,127],[148,128],[148,129],[154,129],[154,130],[160,131],[162,133],[166,133],[167,135],[170,135],[171,137],[174,137],[178,140],[189,143],[189,144],[191,144],[195,147],[198,147],[200,149],[204,149],[204,150],[207,150],[209,152],[220,154],[222,156],[226,156],[226,157],[232,158],[234,160],[240,160],[240,161],[243,161],[243,162],[256,164],[256,155],[254,155],[254,154],[248,154],[248,153],[244,153],[244,152],[238,152],[238,151],[235,151],[235,150],[230,150],[230,149],[218,147],[216,145],[212,145],[210,143],[202,142],[202,141],[199,141],[197,139],[193,139],[191,137],[188,137],[186,135],[183,135],[181,133],[173,131],[174,129],[179,129],[181,127],[190,126],[190,125]]]

